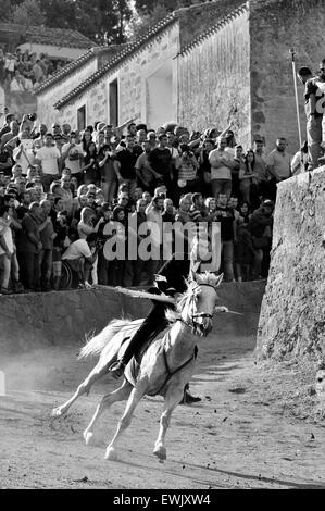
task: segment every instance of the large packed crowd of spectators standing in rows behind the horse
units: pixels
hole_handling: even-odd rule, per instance
[[[63,265],[72,286],[150,285],[163,256],[132,259],[126,250],[114,259],[108,241],[114,235],[127,247],[149,236],[160,251],[151,226],[161,233],[166,222],[220,222],[225,281],[267,276],[277,183],[292,174],[285,138],[265,154],[262,139],[243,147],[232,126],[189,133],[130,123],[121,134],[97,122],[78,133],[35,114],[17,120],[4,110],[2,119],[1,294],[59,290]],[[141,234],[127,228],[130,219],[146,223]]]

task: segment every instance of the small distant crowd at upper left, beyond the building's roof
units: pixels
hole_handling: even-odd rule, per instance
[[[37,55],[17,48],[15,53],[0,48],[0,85],[10,92],[33,91],[64,66],[66,61],[51,60],[47,53]]]

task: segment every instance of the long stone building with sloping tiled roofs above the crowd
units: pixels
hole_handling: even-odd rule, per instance
[[[290,48],[297,66],[316,70],[323,0],[216,0],[180,9],[133,43],[89,50],[36,94],[38,114],[83,128],[130,121],[190,129],[233,123],[246,147],[271,149],[286,136],[298,149]],[[97,52],[103,52],[105,63]],[[299,87],[304,135],[303,88]]]

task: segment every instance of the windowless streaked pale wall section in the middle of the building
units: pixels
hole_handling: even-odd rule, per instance
[[[178,58],[178,122],[191,129],[224,129],[232,121],[250,146],[248,11]]]

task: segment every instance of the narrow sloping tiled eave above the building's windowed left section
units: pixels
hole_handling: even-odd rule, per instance
[[[93,84],[97,82],[101,76],[103,76],[109,70],[117,65],[121,61],[123,61],[126,57],[134,53],[136,50],[138,50],[145,42],[150,40],[152,37],[155,37],[161,30],[166,28],[168,25],[174,23],[177,20],[175,16],[175,13],[168,14],[166,17],[164,17],[162,21],[160,21],[157,25],[150,28],[143,36],[141,36],[139,39],[137,39],[135,42],[130,42],[129,45],[126,45],[126,47],[117,53],[113,59],[111,59],[103,67],[97,71],[97,73],[93,73],[89,78],[87,78],[85,82],[83,82],[80,85],[75,87],[73,90],[71,90],[66,96],[64,96],[62,99],[60,99],[55,104],[55,109],[60,109],[63,104],[68,102],[72,98],[80,94],[83,90],[85,90],[89,85]]]

